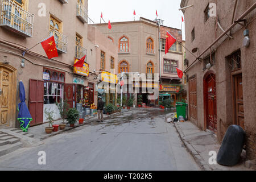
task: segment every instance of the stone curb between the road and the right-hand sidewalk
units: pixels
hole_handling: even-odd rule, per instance
[[[174,122],[174,126],[177,130],[177,133],[179,134],[179,137],[181,139],[181,141],[183,142],[184,146],[187,148],[187,151],[192,155],[192,157],[195,159],[195,161],[197,162],[197,164],[199,164],[200,168],[203,171],[212,171],[212,169],[207,165],[207,163],[205,163],[204,159],[201,157],[201,155],[195,150],[195,148],[189,144],[188,142],[186,142],[183,138],[184,135],[180,129],[179,126],[176,125],[176,123]]]

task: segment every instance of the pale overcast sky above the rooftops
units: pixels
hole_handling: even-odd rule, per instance
[[[181,15],[179,11],[181,0],[89,0],[89,18],[94,23],[100,23],[101,12],[103,19],[107,23],[125,22],[134,20],[133,11],[135,10],[135,20],[139,17],[154,20],[155,10],[158,10],[158,18],[163,19],[163,25],[173,28],[181,28]],[[183,16],[184,18],[184,16]],[[183,40],[185,40],[183,28]]]

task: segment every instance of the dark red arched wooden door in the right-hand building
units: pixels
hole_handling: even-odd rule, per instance
[[[205,115],[207,120],[207,129],[213,133],[217,133],[216,82],[215,76],[211,73],[205,79],[204,97],[206,101]]]

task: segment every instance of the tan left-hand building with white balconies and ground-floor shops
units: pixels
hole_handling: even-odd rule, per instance
[[[54,118],[59,119],[55,102],[61,98],[70,107],[97,104],[97,78],[92,73],[99,53],[97,42],[88,40],[88,1],[3,0],[0,7],[0,127],[18,126],[20,80],[33,119],[31,126],[46,122],[44,109],[54,110]],[[40,45],[49,36],[54,36],[59,55],[53,59],[48,59]],[[116,48],[104,51],[109,49]],[[84,55],[84,67],[73,68]]]

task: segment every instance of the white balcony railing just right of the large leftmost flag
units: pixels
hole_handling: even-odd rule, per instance
[[[56,30],[51,30],[49,32],[49,35],[54,36],[57,50],[60,53],[67,53],[68,52],[68,37],[67,36],[65,36],[63,34],[60,34],[60,32],[58,32]]]

